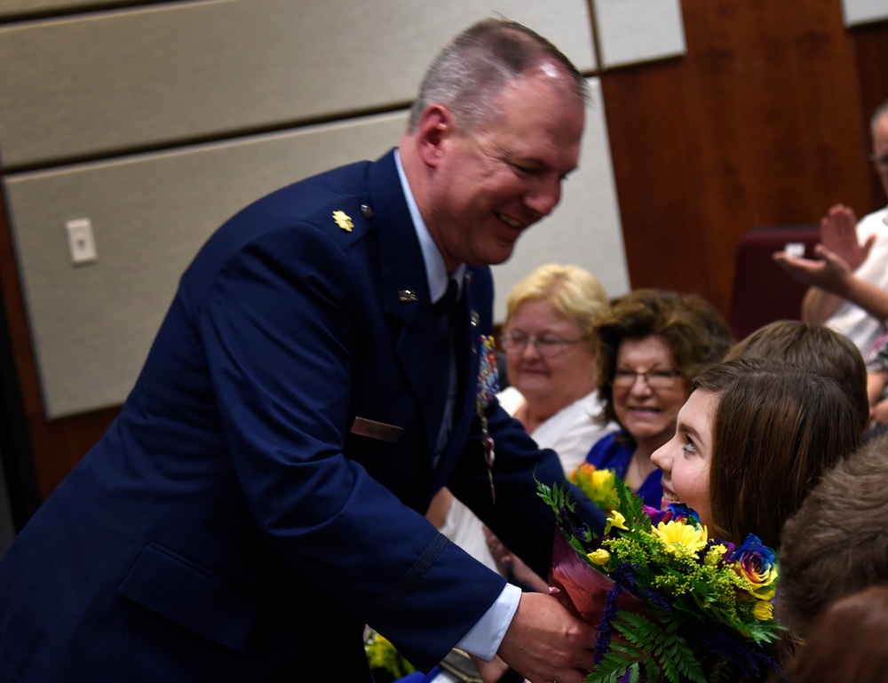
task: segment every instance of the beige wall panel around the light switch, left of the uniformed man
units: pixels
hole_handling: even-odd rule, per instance
[[[206,238],[267,192],[373,159],[406,116],[12,175],[6,190],[46,417],[123,402]],[[90,218],[98,260],[72,266],[65,221]]]

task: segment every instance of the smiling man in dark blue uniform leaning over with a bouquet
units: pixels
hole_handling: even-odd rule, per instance
[[[586,89],[482,20],[396,149],[210,237],[119,417],[0,562],[0,680],[369,682],[369,624],[420,670],[459,645],[582,683],[591,628],[424,513],[446,485],[551,565],[534,473],[564,473],[492,392],[488,266],[559,203]]]

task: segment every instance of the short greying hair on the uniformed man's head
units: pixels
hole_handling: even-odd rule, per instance
[[[475,128],[496,115],[496,101],[507,83],[544,64],[567,75],[573,94],[586,101],[583,75],[546,38],[516,21],[480,20],[446,45],[426,71],[408,129],[416,129],[431,104],[448,107],[461,125]]]

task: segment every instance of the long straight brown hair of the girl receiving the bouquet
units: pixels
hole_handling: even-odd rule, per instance
[[[720,363],[694,380],[718,394],[710,501],[719,536],[774,548],[822,473],[860,446],[856,410],[836,380],[761,357]]]

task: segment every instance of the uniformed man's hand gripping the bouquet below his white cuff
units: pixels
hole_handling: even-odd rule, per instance
[[[595,629],[558,600],[523,593],[499,655],[531,683],[583,683],[595,665]]]

